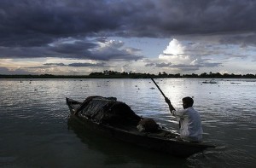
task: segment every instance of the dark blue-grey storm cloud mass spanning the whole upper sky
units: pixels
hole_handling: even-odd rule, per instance
[[[141,57],[124,50],[93,53],[95,43],[49,46],[60,38],[109,36],[169,38],[184,34],[247,33],[255,45],[256,1],[243,0],[1,0],[0,58],[68,57],[109,60]],[[241,37],[225,39],[238,42]],[[108,50],[110,51],[110,50]],[[101,54],[101,55],[98,55]]]

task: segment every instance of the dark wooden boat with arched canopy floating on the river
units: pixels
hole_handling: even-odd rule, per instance
[[[101,102],[102,104],[105,103],[105,105],[103,105],[103,110],[102,108],[97,108],[94,106],[91,100],[96,101],[97,103],[103,101]],[[113,98],[109,99],[96,96],[92,98],[90,97],[84,102],[74,101],[70,98],[66,98],[66,101],[67,106],[70,109],[70,118],[75,119],[80,124],[87,127],[87,129],[96,131],[104,136],[110,136],[114,139],[129,142],[139,147],[149,148],[154,151],[172,154],[174,156],[183,158],[187,158],[192,154],[200,153],[206,148],[214,148],[214,146],[205,144],[203,142],[184,142],[177,138],[178,134],[172,130],[159,128],[158,130],[154,131],[139,131],[137,129],[137,123],[142,118],[137,116],[135,113],[128,115],[125,114],[125,118],[128,119],[128,122],[126,122],[127,120],[122,120],[119,117],[110,119],[109,115],[107,115],[107,118],[110,119],[108,120],[110,122],[106,122],[106,119],[102,119],[104,118],[102,114],[100,114],[100,118],[102,119],[100,121],[96,119],[97,117],[95,117],[95,113],[87,116],[84,115],[83,110],[86,111],[86,109],[91,110],[97,108],[97,114],[102,112],[113,114],[119,113],[120,111],[125,111],[127,109],[129,110],[130,107],[128,105],[125,105],[124,102],[116,101],[116,99]],[[106,101],[108,103],[106,103]],[[104,112],[104,110],[107,110],[108,112]],[[121,113],[121,115],[124,115],[124,113]],[[116,122],[117,120],[121,121]]]

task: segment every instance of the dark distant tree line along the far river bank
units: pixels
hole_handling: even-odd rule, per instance
[[[157,75],[150,73],[137,73],[137,72],[91,72],[89,75],[3,75],[0,74],[0,78],[256,78],[256,74],[234,74],[219,72],[203,72],[201,74],[167,74],[166,72],[159,72]]]

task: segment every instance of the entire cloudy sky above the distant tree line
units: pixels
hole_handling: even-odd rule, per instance
[[[0,74],[256,74],[253,0],[1,0]]]

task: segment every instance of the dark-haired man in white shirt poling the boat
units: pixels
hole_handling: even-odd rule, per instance
[[[183,98],[183,110],[175,110],[171,101],[166,98],[166,103],[173,116],[179,118],[180,137],[189,142],[201,142],[202,128],[200,115],[192,107],[194,101],[191,97]]]

